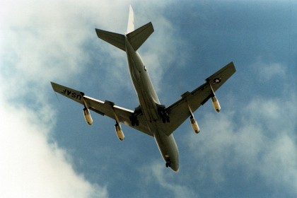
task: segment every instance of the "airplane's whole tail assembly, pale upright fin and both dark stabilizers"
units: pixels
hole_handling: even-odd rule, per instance
[[[109,42],[111,45],[120,48],[121,50],[126,51],[126,41],[125,35],[118,33],[107,32],[105,30],[95,29],[98,37],[106,42]],[[139,47],[144,44],[148,37],[153,33],[153,24],[147,23],[146,25],[141,26],[140,28],[134,30],[134,11],[132,6],[130,6],[129,11],[129,20],[127,26],[127,40],[133,49],[136,51]]]

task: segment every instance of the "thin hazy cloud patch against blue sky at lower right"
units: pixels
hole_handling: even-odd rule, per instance
[[[260,177],[272,189],[297,193],[296,96],[255,98],[238,113],[204,116],[201,134],[187,136],[197,161],[204,161],[214,182],[226,181],[227,169],[243,168],[245,177]],[[235,117],[237,116],[237,117]],[[234,122],[237,120],[238,122]],[[197,151],[199,147],[199,152]],[[199,171],[199,170],[197,170]]]

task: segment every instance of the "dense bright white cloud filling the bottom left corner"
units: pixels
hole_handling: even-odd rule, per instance
[[[3,92],[1,92],[1,95]],[[48,117],[42,117],[45,112]],[[49,139],[54,119],[1,100],[1,197],[107,197],[71,166],[71,156]]]

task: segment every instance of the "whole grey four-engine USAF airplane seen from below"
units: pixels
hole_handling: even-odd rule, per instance
[[[120,50],[123,50],[127,54],[129,74],[139,100],[139,106],[135,110],[117,106],[108,100],[103,102],[91,98],[81,91],[76,91],[57,83],[51,83],[55,92],[83,105],[83,115],[88,124],[93,124],[90,113],[90,110],[92,110],[115,120],[115,132],[121,141],[124,140],[121,123],[152,136],[165,161],[165,166],[178,172],[179,152],[173,132],[185,120],[190,118],[192,129],[198,134],[200,129],[193,113],[210,98],[216,112],[221,110],[215,91],[235,73],[235,66],[233,62],[223,66],[215,74],[206,78],[205,83],[194,89],[194,91],[183,93],[180,100],[165,107],[160,102],[153,88],[151,78],[148,75],[148,69],[137,52],[153,31],[151,22],[135,30],[132,6],[129,7],[127,33],[124,35],[95,29],[100,39],[120,48]]]

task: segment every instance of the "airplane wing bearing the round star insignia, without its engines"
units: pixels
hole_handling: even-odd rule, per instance
[[[209,78],[206,78],[206,82],[202,86],[199,86],[192,92],[187,91],[182,94],[180,100],[167,107],[166,112],[168,112],[170,122],[166,123],[167,131],[165,133],[167,135],[172,134],[182,122],[185,122],[190,117],[190,109],[194,112],[200,105],[204,105],[211,98],[213,94],[211,88],[214,91],[218,90],[234,73],[235,66],[231,62],[215,74],[209,76]]]

